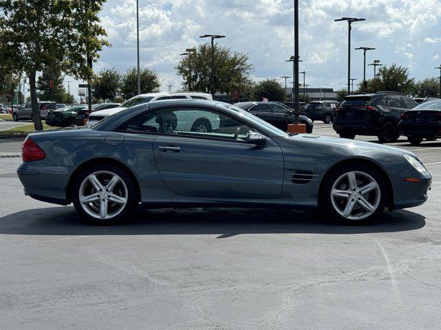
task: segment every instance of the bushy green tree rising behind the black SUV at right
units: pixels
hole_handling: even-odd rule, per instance
[[[399,91],[403,94],[412,94],[414,78],[409,77],[409,68],[393,63],[390,67],[381,67],[378,77],[367,80],[367,93],[377,91]],[[358,90],[361,90],[361,83]]]

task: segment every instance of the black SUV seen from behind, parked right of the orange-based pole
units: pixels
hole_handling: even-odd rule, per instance
[[[417,105],[411,98],[393,91],[349,95],[336,107],[334,130],[349,139],[377,135],[381,143],[395,142],[400,137],[400,114]]]

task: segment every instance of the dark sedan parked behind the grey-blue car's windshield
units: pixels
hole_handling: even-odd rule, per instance
[[[294,123],[294,113],[285,104],[279,102],[239,102],[236,107],[256,115],[282,131],[287,131],[288,124]],[[314,124],[305,115],[299,115],[300,124],[306,124],[307,133],[312,133]]]

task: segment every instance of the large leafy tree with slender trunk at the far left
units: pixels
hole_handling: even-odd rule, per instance
[[[109,45],[98,13],[105,0],[0,0],[0,62],[29,78],[32,117],[41,130],[37,72],[59,65],[76,78],[92,78],[92,61]]]

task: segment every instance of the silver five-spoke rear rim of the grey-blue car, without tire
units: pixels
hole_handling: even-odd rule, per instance
[[[88,175],[79,188],[81,207],[96,219],[116,217],[127,205],[127,199],[127,186],[123,179],[107,170]]]

